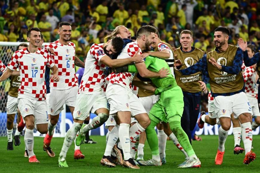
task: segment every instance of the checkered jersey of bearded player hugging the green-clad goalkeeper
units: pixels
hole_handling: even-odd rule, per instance
[[[137,42],[128,43],[123,48],[122,52],[118,55],[117,59],[133,57],[138,50],[140,53],[142,53],[141,48],[138,46]],[[121,72],[117,74],[112,72],[110,75],[107,76],[106,80],[111,82],[112,84],[119,84],[124,88],[131,90],[131,84],[134,76],[135,73],[130,72]]]

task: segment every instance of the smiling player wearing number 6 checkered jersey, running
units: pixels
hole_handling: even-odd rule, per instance
[[[46,48],[52,48],[56,54],[52,55],[52,58],[58,67],[60,78],[59,82],[50,80],[50,121],[48,123],[48,133],[43,141],[43,150],[47,151],[50,157],[55,156],[55,153],[50,148],[50,143],[64,104],[69,107],[73,115],[79,89],[74,65],[84,67],[84,63],[75,56],[75,44],[69,41],[71,37],[70,23],[61,22],[58,34],[60,35],[59,40],[45,46]],[[74,159],[83,159],[84,157],[80,147],[75,145]]]

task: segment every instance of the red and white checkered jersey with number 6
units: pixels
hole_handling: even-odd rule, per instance
[[[75,44],[68,42],[68,45],[59,43],[59,40],[46,45],[54,50],[56,55],[52,55],[54,64],[59,70],[59,82],[50,79],[50,88],[56,90],[70,89],[73,86],[79,86],[78,78],[75,73]]]

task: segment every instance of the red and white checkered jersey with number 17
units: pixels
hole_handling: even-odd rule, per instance
[[[46,97],[45,68],[53,67],[50,53],[40,49],[31,53],[27,48],[16,51],[7,67],[11,70],[19,68],[21,85],[18,89],[18,98],[30,98],[42,101]]]

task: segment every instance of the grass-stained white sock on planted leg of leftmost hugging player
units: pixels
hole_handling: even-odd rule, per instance
[[[74,122],[73,125],[70,127],[70,129],[67,131],[59,158],[66,158],[67,152],[72,142],[76,138],[77,132],[80,130],[81,126],[82,124]]]

